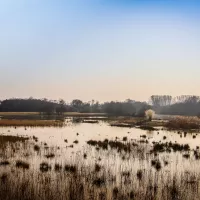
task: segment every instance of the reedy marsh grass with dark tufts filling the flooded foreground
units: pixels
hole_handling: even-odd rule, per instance
[[[193,152],[198,157],[198,148],[192,151],[189,145],[155,142],[151,146],[150,142],[131,141],[128,137],[89,140],[80,156],[73,154],[68,160],[60,162],[57,155],[65,148],[49,146],[47,150],[44,144],[35,144],[20,137],[2,136],[3,142],[7,145],[5,158],[15,151],[12,159],[1,161],[10,163],[0,168],[0,199],[3,200],[200,199],[200,172],[179,171],[176,168],[170,171],[170,163],[162,157],[168,154],[169,149],[180,155],[192,155]],[[25,149],[17,145],[25,142],[30,145],[24,146]],[[35,145],[39,147],[39,154],[34,152]],[[96,148],[99,150],[96,151]],[[24,161],[24,153],[34,155],[38,162],[33,163],[32,159]],[[53,156],[47,160],[45,155],[51,154]],[[16,167],[13,167],[15,161]]]

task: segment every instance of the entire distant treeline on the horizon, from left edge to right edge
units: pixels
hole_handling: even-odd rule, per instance
[[[64,112],[107,113],[110,115],[143,117],[147,109],[153,109],[157,114],[200,116],[200,97],[182,95],[152,95],[150,101],[139,102],[131,99],[125,101],[110,101],[99,103],[91,100],[83,102],[74,99],[66,103],[48,99],[6,99],[0,102],[0,112],[39,112],[47,115],[62,115]]]

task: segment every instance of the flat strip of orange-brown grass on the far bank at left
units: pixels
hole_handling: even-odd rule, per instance
[[[63,126],[62,121],[58,120],[17,120],[2,119],[0,126]]]

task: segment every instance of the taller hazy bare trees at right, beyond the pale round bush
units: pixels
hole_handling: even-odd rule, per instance
[[[153,95],[149,104],[158,114],[200,116],[200,96]]]

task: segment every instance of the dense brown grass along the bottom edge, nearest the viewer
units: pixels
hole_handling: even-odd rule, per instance
[[[0,176],[0,199],[197,200],[200,197],[197,185],[199,177],[195,176],[193,181],[192,175],[183,176],[180,180],[175,176],[166,177],[168,181],[162,183],[163,179],[156,180],[150,173],[144,174],[141,170],[134,174],[133,182],[124,184],[130,176],[125,172],[121,176],[121,183],[109,185],[104,175],[98,175],[99,170],[84,169],[80,172],[77,166],[66,166],[64,170],[56,172],[17,170],[13,174],[4,173]]]

